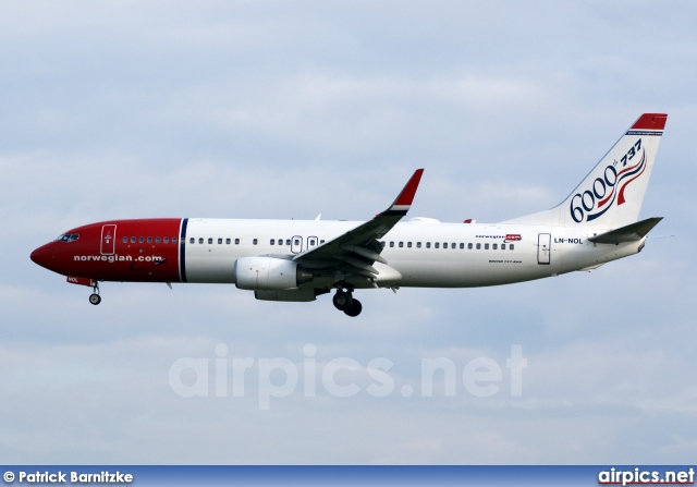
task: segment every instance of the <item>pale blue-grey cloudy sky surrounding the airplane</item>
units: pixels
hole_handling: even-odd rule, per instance
[[[696,16],[2,2],[0,463],[694,462]],[[364,291],[348,318],[220,284],[103,283],[91,306],[29,260],[101,220],[369,219],[421,167],[411,216],[503,221],[564,199],[644,112],[669,114],[641,210],[664,220],[589,273]],[[435,363],[454,375],[428,393]]]

